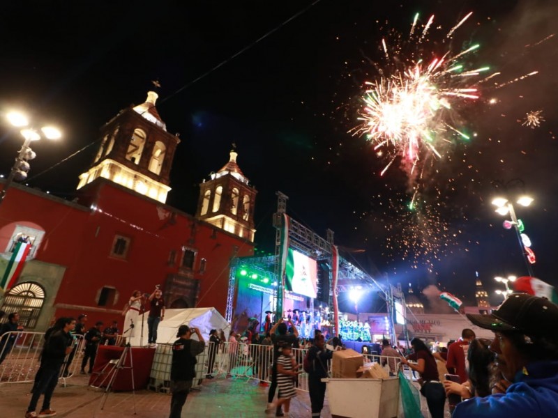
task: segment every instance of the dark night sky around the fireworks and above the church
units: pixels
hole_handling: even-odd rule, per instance
[[[537,256],[534,273],[558,286],[555,1],[66,3],[1,6],[0,112],[25,109],[36,126],[54,122],[64,132],[55,144],[33,144],[30,186],[71,199],[96,146],[61,161],[96,141],[119,110],[144,102],[158,79],[159,114],[181,138],[169,205],[193,214],[197,185],[236,144],[239,166],[258,190],[259,250],[273,252],[271,215],[281,191],[289,215],[324,237],[332,229],[345,257],[373,277],[387,274],[416,290],[437,284],[472,304],[478,272],[497,304],[493,277],[527,270],[514,232],[490,204],[492,182],[519,178],[535,199],[516,207]],[[444,51],[445,34],[469,11],[451,48],[480,43],[467,64],[501,74],[457,109],[453,122],[470,139],[423,162],[409,210],[413,189],[402,164],[380,176],[386,155],[349,130],[359,125],[364,82],[386,70],[382,37],[406,38],[416,13],[419,26],[433,14],[425,50]],[[522,125],[539,110],[540,126]],[[21,139],[5,123],[0,133],[6,175]]]

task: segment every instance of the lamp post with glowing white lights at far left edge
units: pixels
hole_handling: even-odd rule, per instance
[[[27,171],[29,171],[28,161],[33,160],[33,158],[36,157],[36,153],[31,150],[31,147],[29,147],[31,141],[38,141],[43,136],[47,139],[59,139],[62,136],[61,132],[56,129],[56,127],[44,126],[41,127],[40,130],[35,130],[32,127],[27,127],[29,125],[27,116],[17,111],[9,112],[6,115],[6,118],[8,119],[10,125],[13,125],[14,127],[26,128],[20,130],[20,133],[24,138],[24,142],[22,148],[17,153],[17,157],[15,158],[13,167],[10,170],[10,175],[8,176],[8,179],[6,180],[6,183],[4,183],[3,189],[0,192],[0,204],[6,197],[8,187],[10,187],[13,180],[22,181],[27,178]]]

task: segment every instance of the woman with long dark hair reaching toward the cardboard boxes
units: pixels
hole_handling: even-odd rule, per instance
[[[418,374],[421,375],[421,394],[426,398],[432,418],[444,418],[446,392],[444,385],[438,380],[436,360],[421,339],[412,339],[411,347],[414,353],[401,359],[401,362],[407,364],[412,371],[418,371]],[[409,362],[409,360],[413,360],[413,362]]]

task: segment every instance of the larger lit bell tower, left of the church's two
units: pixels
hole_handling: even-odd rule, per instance
[[[97,155],[80,175],[77,189],[103,177],[165,203],[180,140],[167,132],[155,107],[157,98],[156,92],[149,91],[143,104],[123,109],[101,128]]]

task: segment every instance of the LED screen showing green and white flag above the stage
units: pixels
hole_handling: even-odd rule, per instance
[[[316,261],[289,248],[285,270],[287,291],[315,298],[317,296],[317,277]]]

